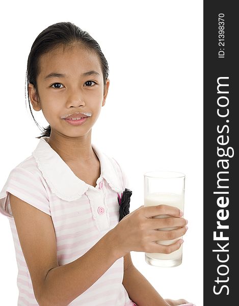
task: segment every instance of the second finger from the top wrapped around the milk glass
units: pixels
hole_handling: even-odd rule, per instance
[[[165,227],[182,227],[185,226],[188,221],[184,218],[149,218],[147,220],[149,230],[156,228],[165,228]]]

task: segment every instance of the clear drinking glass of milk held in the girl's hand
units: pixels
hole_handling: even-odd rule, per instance
[[[151,171],[144,173],[144,206],[169,205],[184,210],[185,174],[173,171]],[[169,215],[152,218],[168,218]],[[158,231],[170,231],[177,227],[158,228]],[[156,243],[169,245],[181,239],[158,240]],[[170,254],[145,253],[145,261],[157,267],[176,267],[182,262],[182,245]]]

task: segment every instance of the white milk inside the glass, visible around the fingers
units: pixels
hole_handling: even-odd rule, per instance
[[[157,206],[157,205],[169,205],[169,206],[174,206],[179,208],[181,211],[183,211],[184,207],[184,196],[183,195],[178,195],[175,193],[161,193],[161,192],[155,192],[148,194],[144,198],[144,206]],[[170,217],[169,215],[160,215],[160,216],[154,216],[152,218],[167,218]],[[172,230],[174,227],[171,228],[161,228],[158,229],[158,231],[169,231]],[[164,244],[164,245],[169,245],[177,241],[182,237],[179,237],[174,240],[158,240],[158,244]],[[146,253],[147,256],[153,259],[163,259],[163,260],[171,260],[171,259],[178,259],[181,258],[182,256],[182,245],[180,248],[170,254],[163,254],[163,253]]]

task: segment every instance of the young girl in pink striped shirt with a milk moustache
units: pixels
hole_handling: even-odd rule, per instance
[[[31,105],[49,126],[0,193],[16,250],[18,305],[186,303],[163,299],[131,262],[131,250],[178,249],[181,240],[155,241],[184,235],[187,221],[166,205],[126,210],[120,218],[127,197],[129,207],[127,178],[91,143],[110,85],[98,43],[71,22],[50,25],[32,45],[27,78]],[[171,217],[151,218],[160,214]],[[176,230],[157,231],[169,221]]]

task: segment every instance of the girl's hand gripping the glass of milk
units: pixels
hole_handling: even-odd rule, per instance
[[[187,220],[181,218],[178,208],[168,205],[141,206],[126,215],[114,228],[118,257],[130,251],[169,254],[179,249],[182,240],[170,245],[158,244],[157,240],[173,240],[183,236]],[[167,218],[152,218],[170,215]],[[170,231],[157,231],[158,228],[175,227]]]

